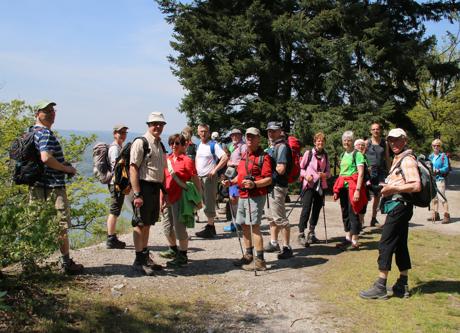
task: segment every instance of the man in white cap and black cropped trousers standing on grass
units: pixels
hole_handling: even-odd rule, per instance
[[[407,236],[413,205],[405,200],[403,193],[420,192],[420,174],[412,150],[407,148],[407,135],[401,128],[388,133],[388,144],[395,154],[388,177],[382,185],[383,213],[388,214],[379,242],[379,277],[374,285],[360,292],[364,299],[386,299],[387,277],[391,270],[393,253],[400,276],[393,285],[393,296],[409,297],[407,274],[411,268]],[[398,165],[400,165],[398,167]]]

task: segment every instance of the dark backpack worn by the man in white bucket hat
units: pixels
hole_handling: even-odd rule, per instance
[[[127,143],[120,151],[120,156],[117,157],[115,161],[115,167],[113,168],[113,185],[115,188],[115,193],[117,194],[128,194],[131,191],[131,183],[129,181],[129,165],[130,156],[131,156],[131,146],[134,141],[137,139],[142,140],[142,149],[144,151],[143,158],[150,153],[150,146],[147,139],[143,136],[135,138],[133,141]],[[166,148],[163,145],[163,142],[160,141],[161,149],[163,153],[166,153]]]

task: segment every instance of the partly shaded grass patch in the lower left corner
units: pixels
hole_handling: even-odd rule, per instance
[[[184,298],[153,288],[122,289],[113,297],[85,277],[69,278],[51,270],[35,277],[6,276],[9,309],[0,308],[0,332],[203,332],[223,305],[199,295]]]

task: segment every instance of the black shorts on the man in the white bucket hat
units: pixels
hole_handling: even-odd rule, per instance
[[[160,189],[161,183],[139,181],[144,204],[140,208],[140,217],[144,225],[154,225],[160,217]],[[136,223],[133,221],[133,226]]]

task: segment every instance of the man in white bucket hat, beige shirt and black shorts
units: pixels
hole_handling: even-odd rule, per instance
[[[152,112],[147,119],[147,132],[131,145],[129,178],[134,194],[133,239],[136,259],[133,267],[145,275],[161,270],[150,258],[148,241],[150,226],[160,215],[160,190],[164,189],[166,149],[161,142],[165,118],[160,112]]]

